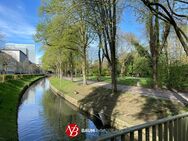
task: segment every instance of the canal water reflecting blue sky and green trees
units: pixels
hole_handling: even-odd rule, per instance
[[[65,134],[69,123],[76,123],[85,132],[70,139]],[[84,141],[95,140],[103,128],[100,121],[90,118],[63,98],[54,95],[48,79],[32,85],[23,95],[18,111],[19,141]],[[104,131],[104,130],[103,130]]]

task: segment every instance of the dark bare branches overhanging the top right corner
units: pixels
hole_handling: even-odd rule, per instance
[[[156,16],[156,18],[163,20],[164,22],[170,24],[173,26],[177,37],[179,38],[179,41],[181,42],[186,54],[188,55],[188,37],[186,33],[180,28],[178,25],[178,22],[176,19],[181,19],[185,21],[188,18],[188,15],[186,15],[186,11],[184,11],[181,6],[183,5],[186,7],[188,5],[187,1],[184,0],[175,0],[170,2],[170,0],[166,0],[166,3],[162,3],[159,0],[141,0],[152,12],[153,15]],[[172,3],[172,5],[170,4]],[[168,5],[168,8],[165,6]],[[181,13],[177,13],[174,10],[174,7],[177,7],[176,9],[180,9]],[[185,14],[184,14],[185,13]]]

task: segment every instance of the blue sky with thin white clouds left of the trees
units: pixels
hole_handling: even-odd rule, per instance
[[[30,44],[35,43],[33,35],[39,21],[40,0],[0,0],[0,33],[5,42]],[[36,56],[42,52],[36,44]]]

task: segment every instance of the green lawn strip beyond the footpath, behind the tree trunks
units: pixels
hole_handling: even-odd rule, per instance
[[[97,80],[97,76],[90,76],[88,77],[89,80]],[[102,76],[102,81],[111,82],[110,76]],[[128,85],[128,86],[137,86],[138,83],[142,87],[151,88],[153,85],[153,81],[151,78],[144,78],[144,77],[118,77],[117,79],[118,84]]]

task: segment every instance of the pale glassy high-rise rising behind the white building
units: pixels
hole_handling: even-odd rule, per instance
[[[16,49],[21,50],[24,54],[28,56],[28,59],[31,63],[36,63],[36,53],[34,44],[15,44],[15,43],[6,43],[5,49]]]

